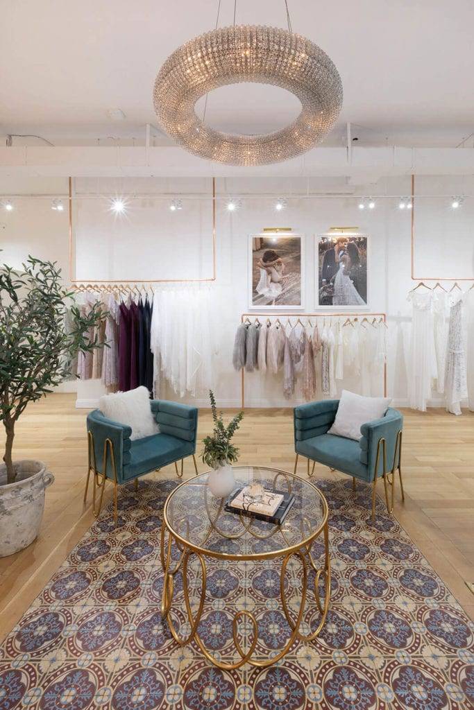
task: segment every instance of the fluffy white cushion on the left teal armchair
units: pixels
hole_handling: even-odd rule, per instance
[[[146,387],[137,387],[129,392],[103,395],[99,410],[105,417],[131,427],[131,439],[143,439],[158,433],[150,408],[150,395]]]

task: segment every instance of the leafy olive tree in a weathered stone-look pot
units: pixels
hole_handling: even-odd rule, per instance
[[[45,487],[54,480],[42,461],[14,461],[15,425],[30,402],[70,377],[78,352],[100,344],[89,337],[106,314],[95,304],[81,314],[56,263],[29,256],[21,271],[0,266],[0,420],[6,440],[0,466],[0,557],[38,535]]]

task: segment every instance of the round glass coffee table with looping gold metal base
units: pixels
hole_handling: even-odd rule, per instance
[[[244,663],[266,667],[286,655],[296,639],[314,640],[323,628],[330,601],[328,504],[323,493],[310,481],[278,469],[235,466],[234,474],[236,486],[258,481],[266,490],[293,494],[293,506],[281,525],[226,512],[228,497],[212,496],[207,485],[208,474],[200,474],[170,493],[161,526],[164,572],[161,614],[180,645],[195,640],[205,657],[222,670],[233,670]],[[232,660],[226,662],[207,648],[200,622],[207,600],[208,567],[215,570],[216,565],[223,568],[217,570],[221,584],[226,583],[226,574],[232,574],[232,567],[245,569],[259,565],[273,576],[275,568],[279,568],[279,600],[271,601],[281,608],[289,625],[284,648],[271,653],[262,652],[261,647],[258,650],[258,610],[249,611],[245,605],[233,611],[232,638],[237,653]],[[296,567],[299,572],[295,573]],[[289,568],[293,570],[291,584],[287,579]],[[188,577],[192,578],[192,584]],[[306,603],[310,588],[319,614],[316,628],[301,623],[305,608],[311,605],[311,599]],[[173,605],[175,591],[184,598],[179,606]],[[225,599],[218,601],[222,602],[220,608],[226,608]]]

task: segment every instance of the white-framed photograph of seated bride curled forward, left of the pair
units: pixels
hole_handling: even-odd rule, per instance
[[[291,233],[249,236],[250,308],[303,308],[303,241]]]

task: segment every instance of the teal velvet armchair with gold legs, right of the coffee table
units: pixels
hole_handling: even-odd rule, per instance
[[[362,437],[357,442],[328,434],[338,405],[339,400],[322,400],[300,405],[293,410],[295,473],[298,456],[301,455],[308,459],[308,476],[313,475],[318,461],[329,466],[332,471],[352,476],[354,489],[357,479],[372,483],[372,520],[375,519],[377,479],[382,477],[387,510],[392,513],[396,469],[402,501],[405,499],[401,464],[403,417],[397,410],[389,408],[384,417],[360,427]],[[313,461],[311,473],[310,461]],[[387,469],[387,461],[391,462],[391,469]]]

